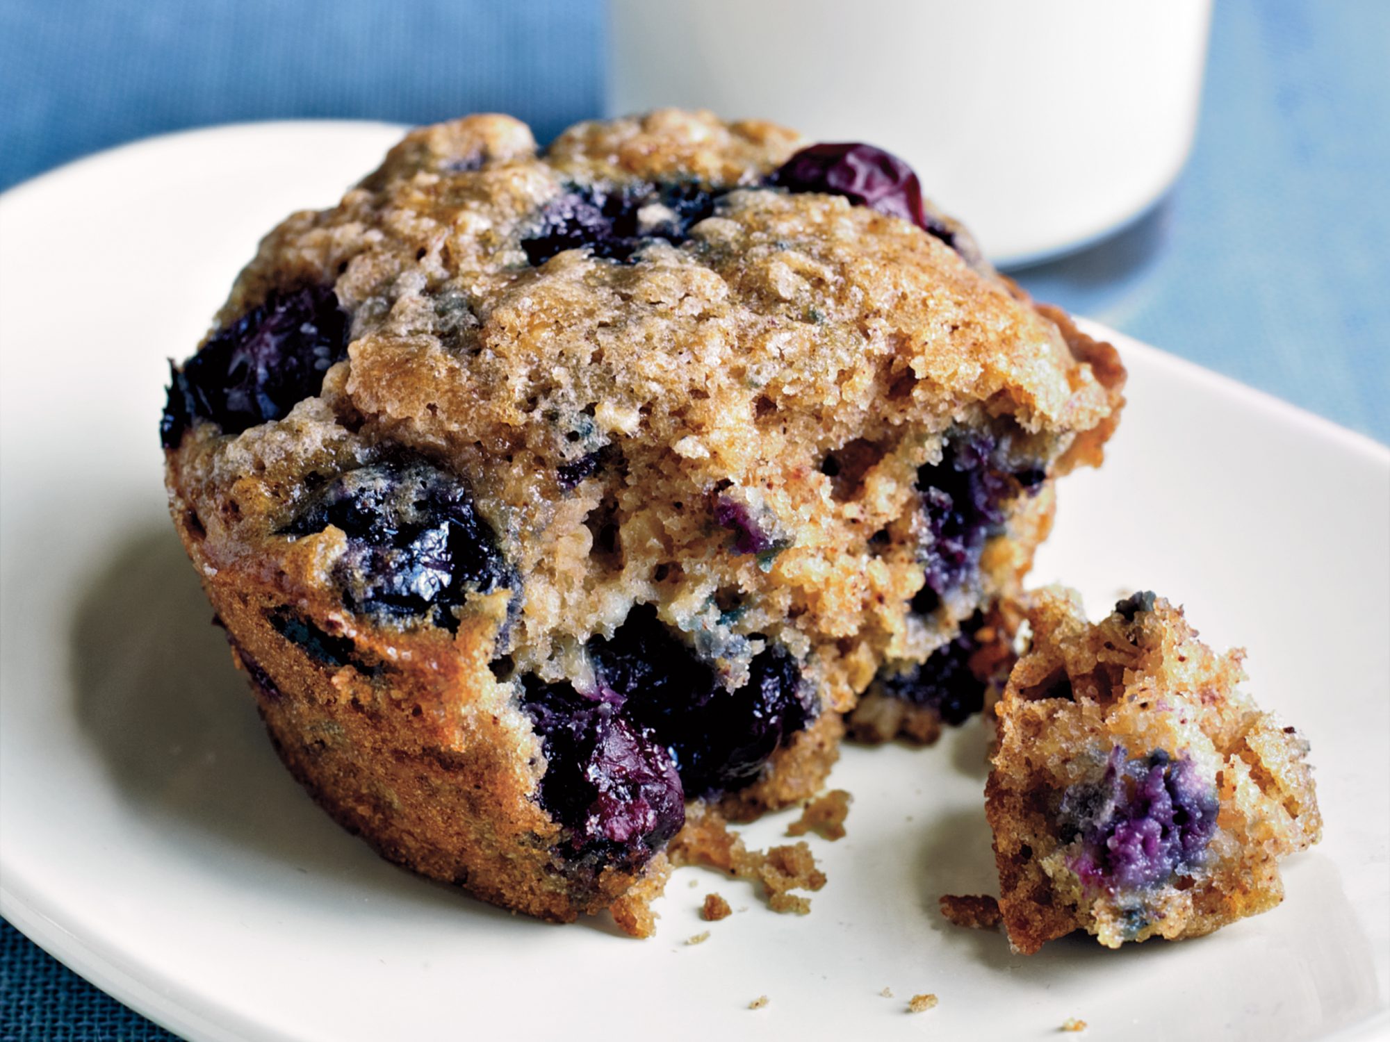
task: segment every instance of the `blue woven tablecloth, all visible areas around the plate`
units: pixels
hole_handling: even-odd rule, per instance
[[[1176,189],[1109,240],[1015,275],[1390,440],[1387,43],[1380,0],[1216,0]],[[136,138],[243,119],[500,110],[543,140],[600,113],[603,46],[602,0],[8,0],[0,188]],[[0,1042],[170,1038],[0,921]]]

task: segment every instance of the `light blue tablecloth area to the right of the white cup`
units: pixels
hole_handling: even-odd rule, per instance
[[[1041,300],[1390,442],[1390,4],[1216,0],[1176,190]]]

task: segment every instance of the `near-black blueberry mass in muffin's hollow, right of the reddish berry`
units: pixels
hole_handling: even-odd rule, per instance
[[[589,654],[623,716],[670,749],[689,796],[756,781],[777,747],[815,716],[813,693],[783,647],[758,654],[748,682],[730,692],[649,606],[634,609],[610,640],[595,639]]]

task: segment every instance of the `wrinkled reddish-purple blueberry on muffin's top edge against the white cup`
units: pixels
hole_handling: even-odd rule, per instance
[[[955,249],[955,235],[922,204],[922,183],[891,151],[860,142],[812,144],[778,167],[769,182],[790,192],[824,192],[901,217]]]

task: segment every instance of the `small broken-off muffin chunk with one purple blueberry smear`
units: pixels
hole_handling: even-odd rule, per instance
[[[1279,859],[1322,818],[1308,743],[1237,688],[1244,653],[1213,653],[1152,593],[1090,625],[1044,590],[1029,621],[986,786],[1013,949],[1201,936],[1275,907]]]

